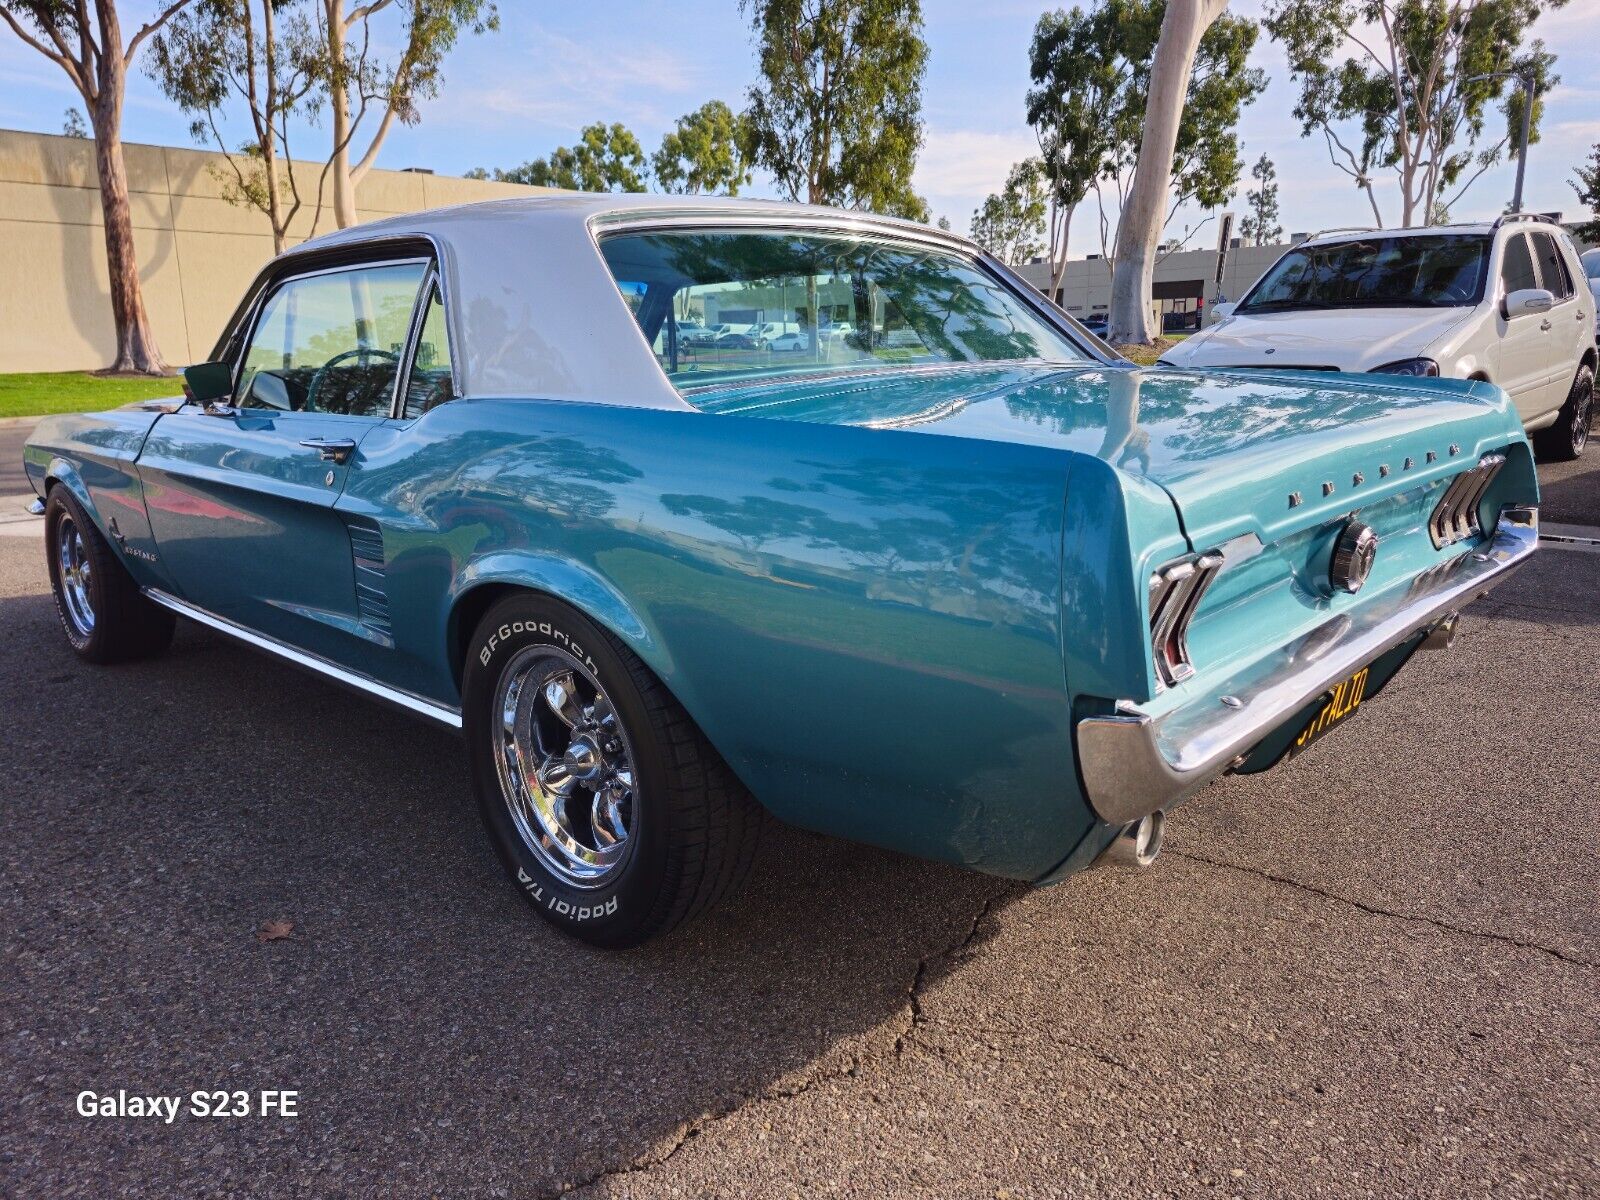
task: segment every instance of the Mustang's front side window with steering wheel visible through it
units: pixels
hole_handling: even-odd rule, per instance
[[[234,403],[389,416],[426,274],[426,262],[384,262],[285,280],[251,331]]]

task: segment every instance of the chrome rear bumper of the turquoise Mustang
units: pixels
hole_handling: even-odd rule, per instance
[[[1371,608],[1318,626],[1182,707],[1152,717],[1123,701],[1112,715],[1085,717],[1077,742],[1090,805],[1114,826],[1173,808],[1352,670],[1486,594],[1538,544],[1539,510],[1507,507],[1486,546],[1434,578],[1422,576],[1421,587],[1413,582]]]

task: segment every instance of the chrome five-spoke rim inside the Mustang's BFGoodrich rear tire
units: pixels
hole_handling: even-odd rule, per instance
[[[528,850],[574,888],[610,882],[638,819],[610,696],[571,654],[528,646],[501,672],[493,712],[501,795]]]

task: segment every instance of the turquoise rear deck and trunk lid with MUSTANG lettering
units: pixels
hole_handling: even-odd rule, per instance
[[[1163,488],[1197,542],[1248,531],[1272,541],[1525,440],[1501,389],[1398,376],[973,365],[790,378],[690,400],[707,413],[1090,454]]]

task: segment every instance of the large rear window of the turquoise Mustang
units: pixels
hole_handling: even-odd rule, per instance
[[[618,234],[600,243],[680,392],[862,366],[1088,362],[958,254],[848,234]],[[707,339],[694,326],[728,330]]]

